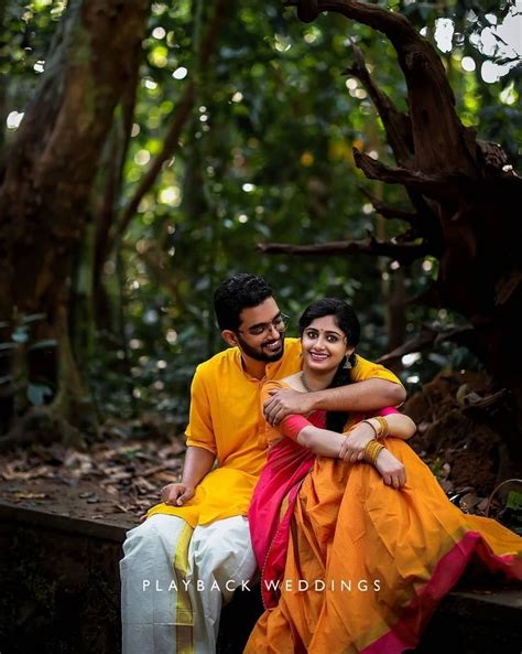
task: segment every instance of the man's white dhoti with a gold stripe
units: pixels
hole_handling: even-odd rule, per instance
[[[127,534],[120,561],[123,654],[213,654],[222,603],[255,571],[242,516],[193,529],[155,514]]]

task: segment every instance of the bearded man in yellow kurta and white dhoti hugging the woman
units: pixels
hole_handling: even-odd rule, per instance
[[[224,281],[214,305],[232,347],[196,369],[182,482],[165,486],[163,504],[128,533],[120,564],[123,654],[213,654],[224,600],[249,588],[255,571],[246,515],[265,460],[259,390],[300,369],[301,347],[284,339],[285,317],[259,276]],[[265,415],[276,424],[290,412],[367,411],[404,399],[382,366],[358,357],[352,376],[359,383],[341,388],[280,393]]]

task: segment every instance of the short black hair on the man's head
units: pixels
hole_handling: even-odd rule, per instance
[[[258,307],[272,297],[272,289],[259,275],[243,272],[222,281],[214,293],[214,310],[219,329],[237,332],[243,309]]]

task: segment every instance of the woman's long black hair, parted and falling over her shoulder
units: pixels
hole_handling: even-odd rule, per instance
[[[344,300],[337,298],[324,298],[317,300],[307,307],[300,318],[300,334],[303,336],[303,332],[307,326],[312,324],[317,318],[324,318],[325,315],[333,315],[337,326],[345,334],[348,344],[351,347],[356,347],[359,343],[361,328],[359,320],[357,319],[356,312],[352,307]],[[355,353],[351,353],[349,357],[345,357],[337,367],[337,371],[331,379],[331,384],[328,388],[338,388],[339,386],[346,386],[351,384],[351,368],[346,368],[345,364],[349,361],[351,368],[357,364],[357,357]],[[348,420],[348,414],[346,411],[327,411],[326,414],[326,429],[331,431],[341,432],[346,421]]]

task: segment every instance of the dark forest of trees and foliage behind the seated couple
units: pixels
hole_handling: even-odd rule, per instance
[[[344,297],[427,384],[442,478],[520,471],[521,8],[329,4],[0,2],[3,449],[181,433],[213,290],[255,271],[291,335]]]

